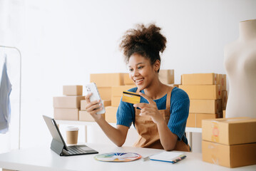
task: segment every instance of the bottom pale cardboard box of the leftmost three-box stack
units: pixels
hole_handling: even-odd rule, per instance
[[[54,108],[53,117],[56,120],[78,120],[79,118],[79,109],[70,109],[70,108]]]

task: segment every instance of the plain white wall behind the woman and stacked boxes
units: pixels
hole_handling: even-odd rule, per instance
[[[183,73],[225,73],[223,48],[238,37],[239,21],[256,18],[255,7],[252,0],[0,0],[0,44],[23,55],[21,147],[51,141],[41,115],[53,116],[63,85],[127,71],[118,41],[128,28],[163,28],[161,67],[180,83]]]

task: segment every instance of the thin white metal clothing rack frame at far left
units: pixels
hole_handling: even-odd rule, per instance
[[[12,47],[12,46],[1,46],[0,48],[11,48],[19,52],[19,149],[21,148],[21,51],[19,48]]]

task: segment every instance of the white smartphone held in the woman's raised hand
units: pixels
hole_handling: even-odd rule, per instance
[[[96,83],[89,83],[86,85],[86,91],[87,91],[87,94],[88,93],[93,93],[91,96],[90,96],[90,101],[95,101],[95,100],[101,100],[101,95],[100,93],[98,93],[98,88],[96,86]],[[98,111],[96,114],[104,114],[106,113],[105,111],[105,107],[104,107],[104,104],[101,100],[101,107],[102,107],[102,110],[101,111]]]

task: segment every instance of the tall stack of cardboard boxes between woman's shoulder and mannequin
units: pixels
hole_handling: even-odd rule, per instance
[[[219,85],[218,78],[223,78]],[[225,87],[225,77],[216,73],[183,74],[182,85],[190,98],[190,111],[187,127],[201,128],[203,119],[222,117],[222,87]]]

